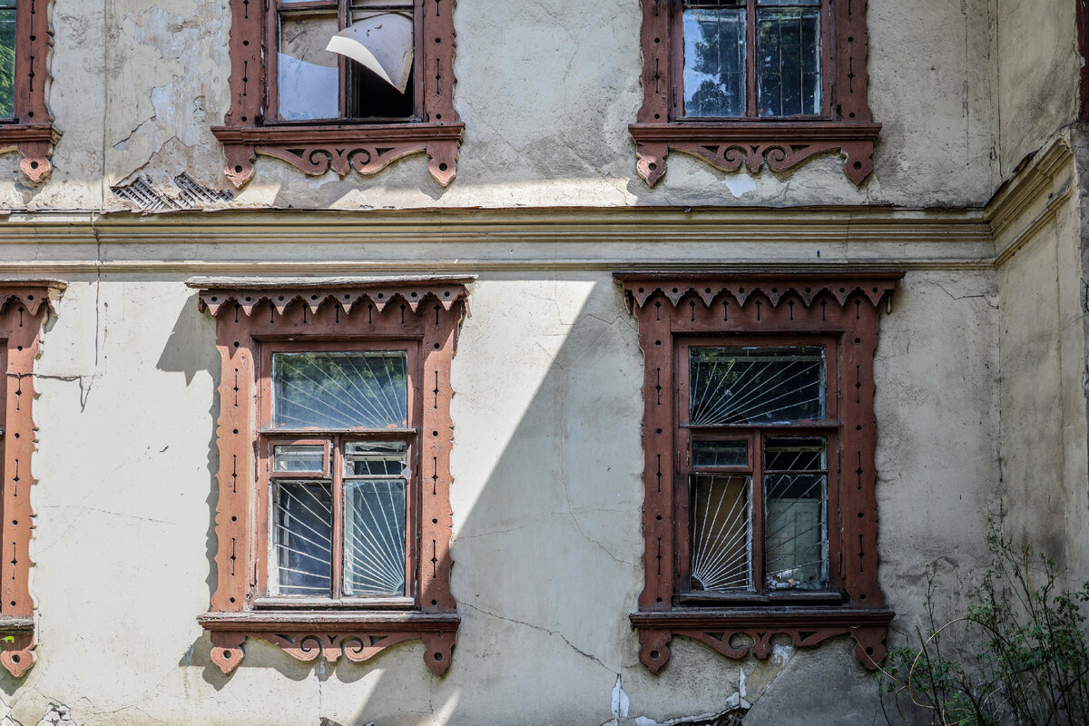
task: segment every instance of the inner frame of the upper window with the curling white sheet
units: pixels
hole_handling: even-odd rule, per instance
[[[279,70],[279,49],[280,49],[280,23],[283,15],[304,15],[308,12],[314,11],[328,11],[335,12],[338,24],[340,29],[346,28],[351,25],[351,14],[352,14],[352,3],[353,0],[295,0],[294,2],[285,2],[284,0],[270,0],[276,7],[268,14],[268,38],[266,42],[269,48],[277,49],[277,52],[269,52],[267,56],[268,70],[266,71],[266,77],[268,78],[268,116],[271,123],[289,123],[289,124],[315,124],[315,123],[359,123],[359,124],[377,124],[377,123],[413,123],[418,122],[424,118],[424,76],[420,73],[415,72],[415,65],[419,58],[423,57],[423,49],[420,48],[423,33],[424,33],[424,19],[423,13],[423,0],[414,0],[413,2],[413,78],[412,78],[412,96],[413,96],[413,113],[409,116],[365,116],[352,113],[352,89],[354,83],[354,76],[358,72],[357,69],[353,67],[353,62],[345,58],[344,56],[337,56],[338,59],[338,86],[340,96],[338,98],[338,104],[340,108],[340,114],[337,116],[328,116],[322,119],[314,120],[302,120],[302,121],[290,121],[283,119],[280,115],[280,70]]]

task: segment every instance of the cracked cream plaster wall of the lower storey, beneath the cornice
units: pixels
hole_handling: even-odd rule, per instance
[[[923,563],[955,559],[952,578],[981,561],[993,294],[984,272],[911,273],[883,321],[881,579],[903,627],[921,612]],[[489,273],[472,304],[453,369],[451,670],[433,677],[419,644],[330,667],[250,642],[227,678],[194,619],[212,578],[213,322],[179,278],[72,280],[38,361],[39,662],[21,685],[0,678],[14,716],[65,703],[81,726],[650,726],[744,698],[746,724],[781,725],[833,723],[849,693],[870,723],[876,692],[845,639],[766,663],[677,639],[661,675],[638,664],[634,320],[601,272]]]

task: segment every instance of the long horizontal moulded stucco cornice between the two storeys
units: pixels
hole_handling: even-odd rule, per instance
[[[0,264],[39,275],[986,270],[1030,241],[1076,186],[1063,135],[983,208],[12,212],[0,218]]]

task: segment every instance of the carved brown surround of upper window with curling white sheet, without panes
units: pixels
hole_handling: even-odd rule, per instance
[[[418,119],[397,123],[351,120],[282,122],[266,118],[276,78],[266,58],[277,52],[276,0],[231,1],[231,110],[212,134],[223,145],[224,174],[236,187],[254,176],[257,156],[281,159],[320,176],[330,169],[375,174],[397,159],[427,153],[431,176],[448,186],[457,173],[465,134],[454,108],[453,0],[416,0]]]

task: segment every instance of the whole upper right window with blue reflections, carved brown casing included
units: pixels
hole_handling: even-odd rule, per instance
[[[756,173],[839,149],[856,184],[873,171],[866,0],[646,0],[641,46],[629,130],[651,186],[670,150]]]

